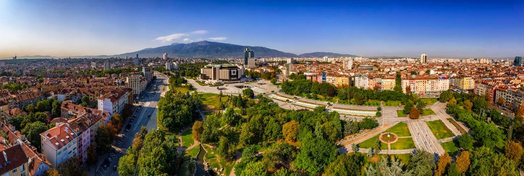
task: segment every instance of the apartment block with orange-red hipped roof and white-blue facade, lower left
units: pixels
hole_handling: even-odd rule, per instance
[[[52,168],[78,154],[78,135],[69,124],[58,124],[40,134],[42,154]]]

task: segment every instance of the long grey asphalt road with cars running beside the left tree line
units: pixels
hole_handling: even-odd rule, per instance
[[[118,175],[118,172],[113,170],[113,166],[118,163],[120,157],[124,156],[126,150],[133,144],[133,138],[135,134],[140,131],[142,126],[146,126],[148,130],[157,128],[156,126],[156,109],[157,103],[160,100],[160,94],[162,92],[162,82],[163,84],[168,84],[168,79],[165,75],[156,74],[157,79],[155,82],[146,89],[144,97],[140,99],[140,102],[143,103],[143,107],[137,111],[139,104],[134,104],[132,117],[124,122],[122,130],[118,134],[118,137],[113,142],[113,147],[117,150],[116,153],[106,152],[103,155],[97,156],[96,172],[94,169],[88,170],[89,175]],[[130,119],[134,119],[134,122],[131,123]],[[155,122],[152,122],[155,121]],[[128,132],[125,131],[126,126],[130,124],[131,127]],[[126,137],[123,138],[122,135]],[[107,169],[102,167],[104,159],[107,157],[112,158],[112,162]]]

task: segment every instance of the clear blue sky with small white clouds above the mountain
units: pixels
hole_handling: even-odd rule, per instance
[[[118,54],[199,40],[291,53],[524,56],[524,1],[0,0],[0,57]]]

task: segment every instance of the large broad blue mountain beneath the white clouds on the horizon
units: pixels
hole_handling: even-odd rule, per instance
[[[249,47],[250,50],[255,51],[255,57],[297,57],[297,55],[293,53],[282,52],[266,47],[241,46],[205,40],[192,43],[172,43],[168,46],[146,48],[110,57],[134,57],[136,54],[138,54],[139,57],[161,57],[163,53],[167,53],[169,57],[242,58],[244,57],[244,47]]]

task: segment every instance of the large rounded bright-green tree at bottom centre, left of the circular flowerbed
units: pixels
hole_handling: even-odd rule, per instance
[[[335,160],[336,153],[336,147],[328,140],[312,138],[309,142],[300,142],[300,152],[293,163],[298,169],[319,173]]]

